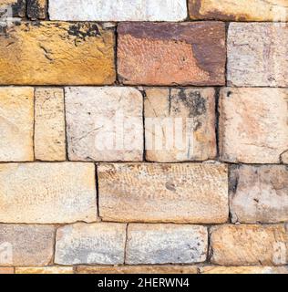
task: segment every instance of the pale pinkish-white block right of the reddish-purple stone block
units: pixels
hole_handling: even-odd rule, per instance
[[[288,26],[231,23],[228,33],[228,85],[288,86]]]

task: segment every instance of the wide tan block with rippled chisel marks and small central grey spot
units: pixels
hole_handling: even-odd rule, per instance
[[[228,174],[213,164],[100,164],[99,213],[119,222],[225,223]]]

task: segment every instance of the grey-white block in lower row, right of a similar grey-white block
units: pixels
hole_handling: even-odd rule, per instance
[[[197,225],[129,224],[126,263],[190,264],[206,260],[207,229]]]

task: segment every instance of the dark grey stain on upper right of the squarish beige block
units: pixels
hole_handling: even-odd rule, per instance
[[[207,110],[206,99],[201,96],[201,92],[198,90],[185,92],[185,89],[180,89],[175,101],[176,104],[180,101],[189,110],[189,118],[199,117]]]

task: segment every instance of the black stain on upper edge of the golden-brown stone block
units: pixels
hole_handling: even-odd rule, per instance
[[[69,36],[76,36],[83,40],[86,40],[86,37],[90,36],[101,36],[98,25],[93,23],[77,23],[70,25],[67,32]]]

